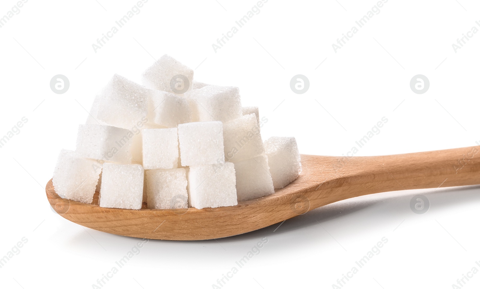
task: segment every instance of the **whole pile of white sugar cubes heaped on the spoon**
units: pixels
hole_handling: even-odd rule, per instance
[[[295,138],[260,135],[258,107],[239,88],[193,81],[168,55],[141,86],[114,75],[62,150],[53,186],[62,198],[107,208],[235,206],[273,194],[301,171]]]

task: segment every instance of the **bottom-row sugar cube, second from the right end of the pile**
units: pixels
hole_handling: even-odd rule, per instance
[[[265,155],[235,163],[237,200],[248,201],[275,192]]]

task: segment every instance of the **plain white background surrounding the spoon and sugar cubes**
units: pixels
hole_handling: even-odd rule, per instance
[[[239,3],[237,3],[239,2]],[[73,224],[49,207],[45,185],[60,149],[74,149],[96,95],[114,74],[140,81],[167,53],[195,79],[240,87],[242,104],[268,118],[264,139],[294,136],[304,154],[342,155],[382,117],[388,123],[356,155],[431,151],[480,140],[480,33],[452,48],[480,21],[473,0],[389,0],[340,50],[332,44],[375,0],[273,1],[214,52],[256,1],[153,1],[94,52],[135,0],[28,1],[0,28],[0,135],[28,122],[0,149],[2,288],[92,288],[137,239]],[[14,0],[0,3],[0,17]],[[480,26],[477,26],[480,28]],[[319,64],[322,63],[320,66]],[[55,94],[53,75],[70,88]],[[295,94],[293,75],[310,79]],[[430,88],[415,94],[413,75]],[[85,108],[85,109],[84,109]],[[401,188],[399,188],[401,189]],[[426,214],[409,201],[430,199]],[[332,288],[383,237],[343,288],[452,288],[480,260],[479,187],[396,191],[342,201],[238,237],[151,240],[103,288],[212,288],[262,238],[268,243],[223,288]],[[480,274],[464,288],[478,288]]]

